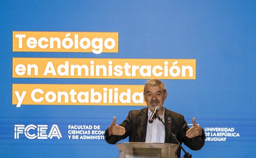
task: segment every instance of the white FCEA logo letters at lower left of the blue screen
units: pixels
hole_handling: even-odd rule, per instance
[[[19,139],[20,134],[24,134],[28,139],[52,139],[57,137],[62,138],[60,129],[57,125],[52,125],[48,132],[48,125],[14,125],[14,139]]]

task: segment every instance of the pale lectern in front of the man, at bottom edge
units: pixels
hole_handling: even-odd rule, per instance
[[[169,143],[118,143],[118,158],[177,158],[177,144]]]

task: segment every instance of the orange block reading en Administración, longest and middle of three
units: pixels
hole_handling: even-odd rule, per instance
[[[12,77],[196,79],[196,59],[12,58]]]

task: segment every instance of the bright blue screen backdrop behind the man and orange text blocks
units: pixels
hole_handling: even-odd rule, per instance
[[[195,80],[163,80],[164,106],[207,133],[195,158],[252,158],[256,151],[256,1],[10,0],[0,2],[0,157],[117,157],[102,139],[69,139],[68,125],[100,126],[142,106],[12,105],[12,84],[135,84],[146,79],[12,78],[12,58],[196,59]],[[118,53],[13,52],[13,31],[118,32]],[[57,125],[62,138],[15,139],[15,125]],[[218,128],[222,131],[217,136]],[[215,130],[215,131],[214,131]],[[216,135],[215,135],[216,134]],[[227,135],[229,134],[229,135]],[[222,139],[221,139],[222,138]],[[225,139],[225,141],[224,141]],[[121,142],[128,142],[125,139]]]

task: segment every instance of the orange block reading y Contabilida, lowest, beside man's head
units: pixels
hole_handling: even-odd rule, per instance
[[[12,84],[12,104],[144,106],[144,85]]]

